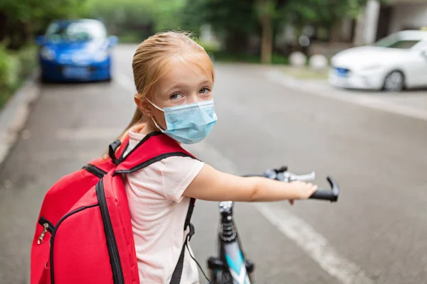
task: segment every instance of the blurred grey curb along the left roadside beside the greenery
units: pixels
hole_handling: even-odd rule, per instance
[[[31,104],[36,102],[41,92],[37,78],[38,71],[33,72],[0,111],[0,165],[18,140],[30,114]]]

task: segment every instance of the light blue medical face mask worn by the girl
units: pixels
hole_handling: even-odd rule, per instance
[[[218,119],[213,99],[176,107],[165,107],[164,109],[160,109],[152,102],[149,103],[156,109],[164,112],[167,129],[161,129],[152,117],[157,128],[167,136],[184,144],[193,144],[202,141],[211,132]]]

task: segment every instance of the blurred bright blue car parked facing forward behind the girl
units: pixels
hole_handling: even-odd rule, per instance
[[[90,19],[53,21],[36,40],[43,82],[111,80],[111,48],[104,24]]]

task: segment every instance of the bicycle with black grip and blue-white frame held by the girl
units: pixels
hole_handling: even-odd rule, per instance
[[[283,182],[295,180],[309,181],[316,177],[315,172],[307,175],[295,175],[288,172],[288,167],[277,170],[266,170],[263,175],[245,175],[246,177],[261,176]],[[319,189],[310,199],[337,202],[339,187],[331,177],[327,177],[331,189]],[[207,263],[211,284],[251,284],[253,283],[254,263],[245,258],[241,242],[238,239],[236,224],[233,222],[233,202],[219,202],[221,215],[218,230],[218,256],[211,256]]]

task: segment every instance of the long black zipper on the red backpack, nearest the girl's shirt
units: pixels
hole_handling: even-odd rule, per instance
[[[98,203],[100,204],[102,222],[104,223],[105,239],[107,239],[108,254],[110,255],[113,282],[114,284],[125,284],[119,250],[117,249],[114,231],[112,230],[110,214],[108,214],[107,200],[105,200],[103,180],[100,180],[95,185],[95,190]]]

